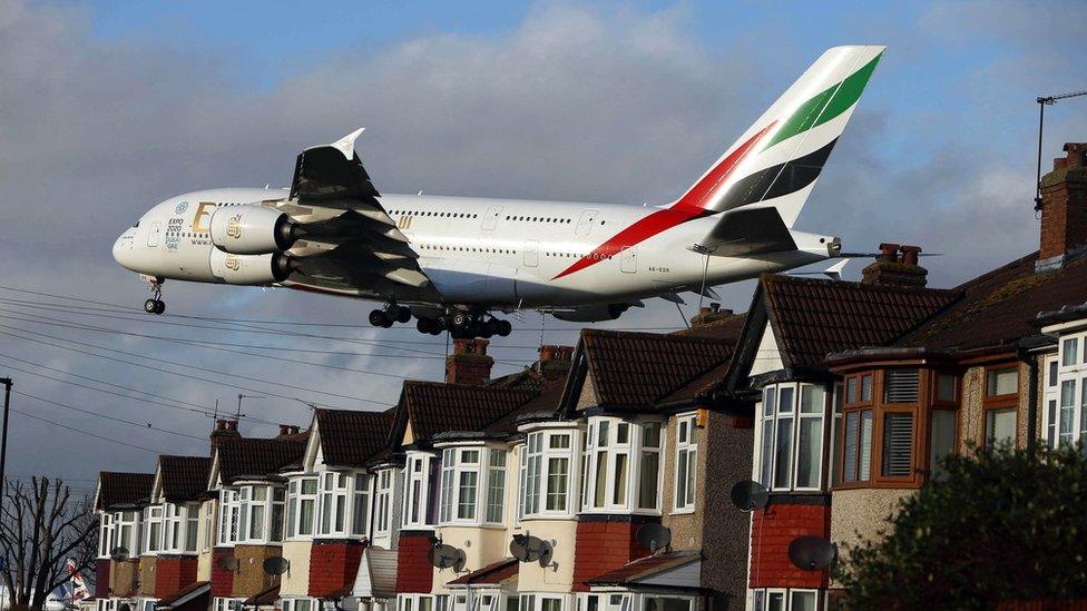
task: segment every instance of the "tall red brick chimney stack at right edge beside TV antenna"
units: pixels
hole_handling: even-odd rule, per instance
[[[1059,269],[1087,247],[1087,142],[1068,142],[1041,177],[1041,235],[1036,269]]]

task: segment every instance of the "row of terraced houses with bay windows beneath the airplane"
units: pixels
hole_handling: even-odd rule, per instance
[[[104,472],[97,611],[833,608],[794,540],[874,535],[948,453],[1087,438],[1085,150],[1042,180],[1039,250],[952,288],[884,244],[861,282],[764,276],[745,314],[585,329],[502,377],[458,341],[389,411],[219,421],[209,454]]]

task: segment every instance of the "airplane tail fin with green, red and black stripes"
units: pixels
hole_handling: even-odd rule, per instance
[[[792,227],[884,49],[828,49],[672,207],[763,204]]]

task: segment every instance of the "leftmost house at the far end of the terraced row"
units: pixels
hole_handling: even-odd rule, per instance
[[[150,497],[154,473],[98,474],[98,559],[95,563],[96,611],[136,609],[139,594],[140,514]]]

